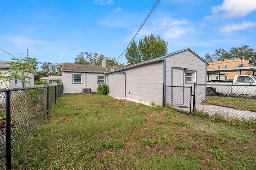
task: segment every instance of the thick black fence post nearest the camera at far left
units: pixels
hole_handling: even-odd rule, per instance
[[[11,169],[11,92],[7,91],[6,99],[6,169]]]

